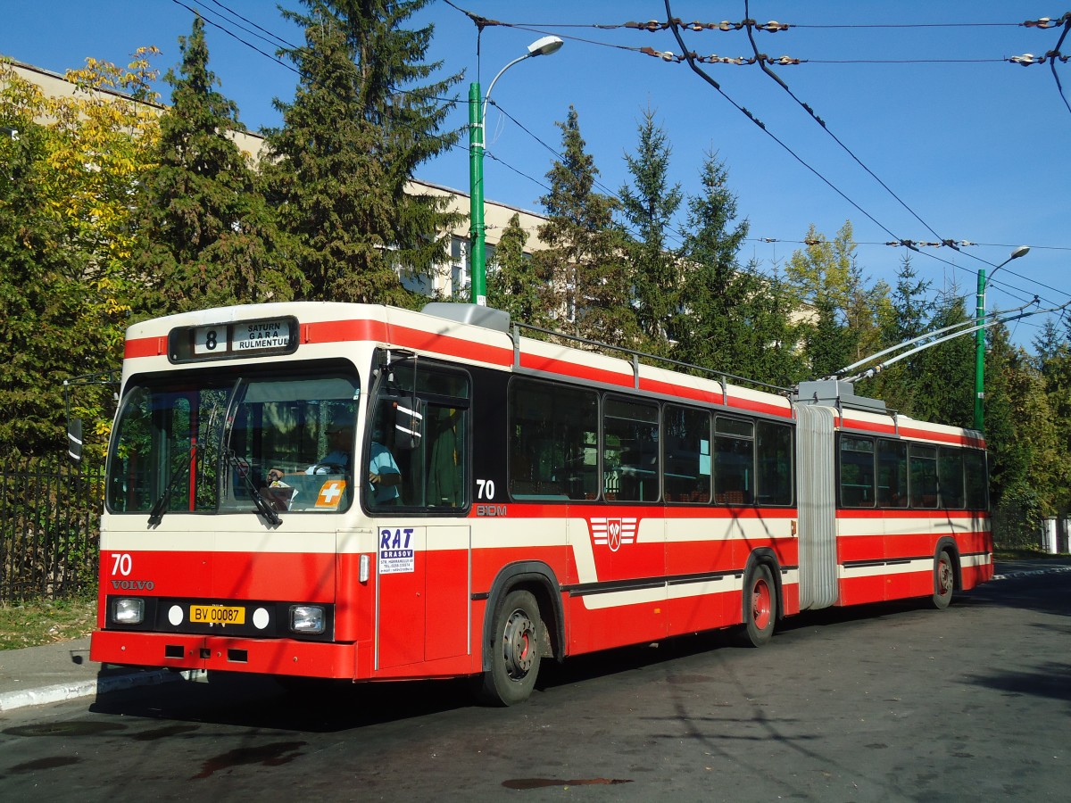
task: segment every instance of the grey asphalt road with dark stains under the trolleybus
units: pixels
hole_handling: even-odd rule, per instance
[[[571,661],[531,700],[463,683],[212,679],[14,711],[11,801],[1067,800],[1071,574],[798,617],[760,650]]]

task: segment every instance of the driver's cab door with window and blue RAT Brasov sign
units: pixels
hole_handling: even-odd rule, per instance
[[[369,415],[362,503],[376,520],[376,666],[470,652],[466,471],[469,381],[447,366],[387,367]]]

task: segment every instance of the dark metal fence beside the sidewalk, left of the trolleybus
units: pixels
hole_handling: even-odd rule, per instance
[[[103,499],[101,466],[0,464],[0,602],[93,592]]]

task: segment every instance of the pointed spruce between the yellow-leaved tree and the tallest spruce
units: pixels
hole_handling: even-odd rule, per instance
[[[215,89],[199,16],[179,46],[179,72],[165,76],[172,105],[160,120],[157,164],[144,180],[138,313],[286,301],[301,277],[248,157],[228,136],[243,128],[235,103]]]

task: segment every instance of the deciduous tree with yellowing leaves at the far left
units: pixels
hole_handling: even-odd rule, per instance
[[[0,63],[0,445],[63,449],[63,381],[116,368],[132,277],[135,177],[156,136],[150,65],[88,60],[75,91],[46,97]],[[121,94],[120,94],[121,93]],[[72,413],[103,449],[110,392],[81,388]],[[93,435],[97,437],[93,437]]]

